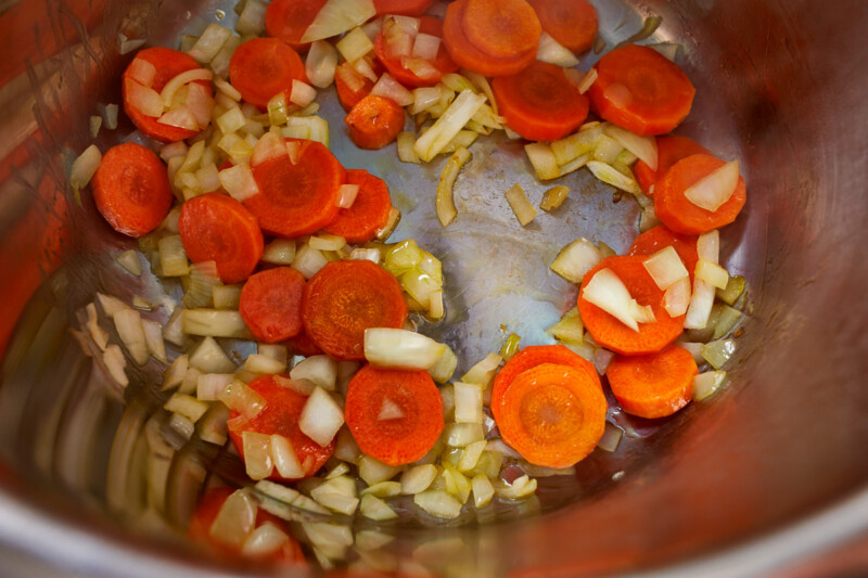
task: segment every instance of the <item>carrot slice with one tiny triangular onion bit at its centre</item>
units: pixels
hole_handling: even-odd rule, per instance
[[[407,464],[427,453],[443,432],[443,397],[426,371],[365,365],[347,386],[344,420],[367,455]]]

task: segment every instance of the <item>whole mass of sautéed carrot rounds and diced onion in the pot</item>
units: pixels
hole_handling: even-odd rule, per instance
[[[73,167],[78,187],[95,172],[100,213],[183,295],[163,324],[101,295],[104,318],[133,362],[165,368],[176,434],[243,463],[244,479],[214,478],[243,487],[205,492],[191,537],[298,563],[283,523],[306,519],[298,510],[444,521],[518,504],[536,478],[616,451],[613,410],[659,419],[722,386],[744,283],[719,264],[718,229],[745,184],[738,162],[665,136],[693,100],[678,65],[627,44],[575,68],[597,33],[584,1],[246,0],[239,12],[239,35],[212,24],[182,50],[139,51],[120,82],[148,146],[101,160],[91,149]],[[490,344],[455,378],[452,349],[413,320],[443,320],[444,292],[460,288],[412,239],[390,241],[400,213],[388,175],[329,150],[317,113],[331,97],[317,89],[331,85],[356,146],[397,141],[416,164],[451,155],[425,208],[443,227],[461,218],[451,188],[473,143],[503,130],[536,141],[525,151],[539,180],[587,166],[634,195],[643,232],[629,255],[586,239],[563,247],[551,269],[579,291],[551,341],[511,336],[500,355]],[[541,208],[570,192],[551,188]],[[529,223],[521,187],[505,193]],[[93,304],[84,319],[126,386],[126,357]],[[715,371],[700,373],[706,360]],[[328,524],[305,528],[320,564],[340,557]]]

